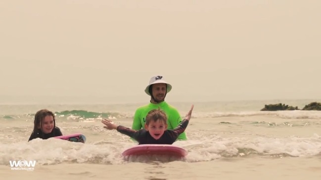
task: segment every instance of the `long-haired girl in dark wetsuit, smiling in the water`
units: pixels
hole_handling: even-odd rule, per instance
[[[56,127],[54,114],[47,109],[39,110],[35,115],[34,130],[28,142],[36,138],[46,140],[56,136],[62,136],[62,133]]]

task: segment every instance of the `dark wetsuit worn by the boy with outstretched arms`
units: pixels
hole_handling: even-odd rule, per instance
[[[178,136],[185,131],[187,125],[188,120],[184,119],[175,129],[164,131],[164,134],[158,140],[155,140],[145,129],[136,131],[124,126],[118,126],[117,131],[134,138],[138,141],[138,144],[173,144]]]

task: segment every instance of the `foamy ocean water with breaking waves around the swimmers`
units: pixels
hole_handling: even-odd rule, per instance
[[[187,141],[174,144],[185,158],[121,157],[136,145],[129,137],[106,130],[111,118],[131,127],[143,104],[0,105],[0,175],[5,179],[276,179],[321,178],[321,111],[260,111],[265,104],[303,108],[320,100],[270,100],[170,103],[182,117],[194,104]],[[82,133],[87,142],[36,139],[28,143],[35,113],[53,111],[63,134]],[[10,161],[36,161],[33,171],[11,170]],[[1,178],[2,179],[2,178]]]

